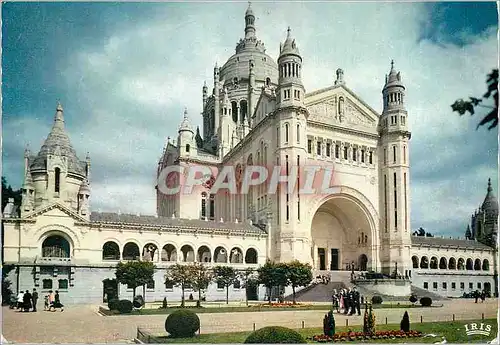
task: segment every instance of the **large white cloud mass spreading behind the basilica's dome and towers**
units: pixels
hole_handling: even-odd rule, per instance
[[[155,6],[147,20],[134,13],[114,18],[131,25],[109,27],[93,45],[73,42],[78,48],[59,59],[68,132],[79,155],[88,151],[92,158],[94,209],[155,213],[154,177],[165,140],[177,136],[184,107],[201,127],[203,82],[211,92],[215,62],[221,66],[234,54],[244,34],[246,4]],[[275,59],[291,26],[309,92],[332,85],[341,67],[347,86],[381,111],[385,74],[395,60],[412,131],[412,228],[461,235],[484,198],[487,178],[497,186],[498,149],[496,133],[475,130],[479,115],[459,117],[450,105],[484,93],[486,74],[497,65],[496,28],[481,34],[464,28],[459,46],[421,39],[431,18],[424,4],[276,2],[253,8],[257,36]],[[41,133],[48,133],[55,107],[49,103],[43,118],[5,123],[6,131],[18,134],[4,146],[9,174],[22,171],[23,143],[37,150]]]

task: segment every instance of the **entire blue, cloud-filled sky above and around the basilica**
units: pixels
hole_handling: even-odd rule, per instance
[[[202,85],[244,36],[246,2],[3,3],[2,175],[23,180],[57,101],[80,159],[92,160],[94,211],[154,214],[155,175],[187,107],[202,124]],[[411,227],[463,236],[489,177],[498,190],[498,131],[458,116],[497,67],[498,17],[489,3],[254,2],[257,37],[277,59],[291,27],[306,91],[346,86],[381,112],[390,61],[406,86]],[[482,110],[483,112],[486,109]],[[497,194],[497,193],[496,193]]]

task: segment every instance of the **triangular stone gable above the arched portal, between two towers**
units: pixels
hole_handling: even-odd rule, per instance
[[[343,85],[306,95],[308,121],[349,128],[376,130],[379,115]]]

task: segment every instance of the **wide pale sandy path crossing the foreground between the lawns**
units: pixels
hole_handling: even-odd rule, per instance
[[[497,299],[488,299],[485,303],[475,304],[474,300],[456,299],[443,301],[442,308],[412,308],[408,310],[412,323],[481,320],[496,318]],[[3,336],[9,343],[123,343],[131,342],[136,336],[137,327],[162,330],[166,315],[130,315],[105,317],[97,313],[97,306],[71,306],[64,312],[21,313],[8,307],[2,309]],[[377,323],[399,324],[403,309],[376,310]],[[321,327],[325,312],[310,311],[266,311],[242,313],[199,314],[201,332],[251,331],[267,325],[290,328]],[[337,325],[362,323],[362,316],[335,315]]]

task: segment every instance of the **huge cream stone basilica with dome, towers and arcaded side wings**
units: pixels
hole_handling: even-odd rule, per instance
[[[148,260],[157,272],[146,298],[175,300],[180,289],[164,279],[173,263],[243,270],[299,260],[333,280],[344,279],[343,271],[375,271],[443,296],[493,291],[498,201],[490,184],[464,239],[413,235],[405,106],[411,100],[394,62],[380,85],[381,113],[348,87],[341,68],[331,86],[306,93],[300,42],[288,28],[275,60],[257,38],[255,19],[249,6],[244,38],[222,67],[215,65],[210,89],[201,87],[202,130],[185,110],[177,138],[152,164],[154,215],[92,210],[90,155],[78,157],[65,131],[71,115],[57,105],[40,151],[25,152],[19,212],[12,202],[3,210],[3,258],[16,267],[9,276],[14,288],[58,289],[67,303],[101,303],[115,284],[127,298],[132,290],[114,281],[116,264]],[[212,191],[210,183],[192,193],[162,192],[168,167],[232,166],[242,174],[253,165],[281,166],[285,177],[292,166],[334,167],[336,192],[271,194],[259,185],[231,194]],[[169,183],[181,182],[174,176]],[[262,299],[265,290],[255,289],[251,295]],[[241,300],[246,293],[236,282],[229,296]],[[206,295],[225,299],[217,284]]]

